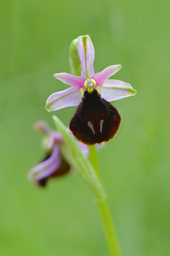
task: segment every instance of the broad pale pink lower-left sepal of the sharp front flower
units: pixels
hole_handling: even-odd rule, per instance
[[[78,106],[81,102],[80,90],[73,87],[61,92],[55,92],[49,96],[46,102],[46,109],[50,112],[61,108]]]

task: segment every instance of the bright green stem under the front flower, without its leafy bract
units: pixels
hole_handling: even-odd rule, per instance
[[[89,147],[90,152],[90,162],[92,166],[94,167],[100,181],[100,174],[99,174],[99,166],[98,166],[98,159],[97,159],[97,152],[95,147]],[[98,199],[98,198],[97,198]],[[107,198],[105,198],[103,201],[98,200],[98,206],[101,214],[101,218],[103,220],[103,226],[105,230],[106,240],[109,248],[109,252],[111,256],[121,256],[120,249],[118,246],[117,238],[116,238],[116,232],[111,216],[111,212],[109,210]]]

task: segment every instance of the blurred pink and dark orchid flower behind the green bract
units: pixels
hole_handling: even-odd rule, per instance
[[[35,181],[37,185],[44,187],[49,178],[60,177],[71,170],[69,163],[65,161],[61,152],[59,143],[63,141],[59,132],[50,129],[45,121],[37,121],[34,125],[36,131],[43,131],[43,147],[46,151],[45,158],[33,167],[28,174],[28,179]],[[89,151],[86,145],[79,142],[83,153],[88,156]]]

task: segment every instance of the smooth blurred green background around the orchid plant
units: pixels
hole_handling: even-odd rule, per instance
[[[1,228],[3,256],[107,256],[97,205],[79,174],[28,182],[44,156],[38,119],[54,128],[56,114],[69,125],[75,108],[48,113],[46,99],[67,88],[53,74],[70,73],[69,46],[88,34],[95,71],[114,75],[137,90],[113,102],[123,122],[99,151],[123,256],[170,255],[169,2],[3,1],[1,29]]]

